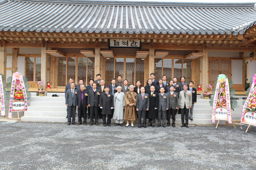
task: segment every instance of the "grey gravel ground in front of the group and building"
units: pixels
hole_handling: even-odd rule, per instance
[[[75,126],[0,122],[1,170],[255,170],[247,126]]]

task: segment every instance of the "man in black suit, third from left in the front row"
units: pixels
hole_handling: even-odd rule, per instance
[[[90,126],[95,123],[95,125],[99,126],[98,120],[98,107],[100,107],[100,96],[101,96],[101,91],[96,89],[97,84],[93,83],[93,89],[89,90],[88,93],[88,107],[90,107]],[[95,121],[94,121],[95,117]]]

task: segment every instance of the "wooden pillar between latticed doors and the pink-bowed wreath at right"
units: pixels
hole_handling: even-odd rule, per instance
[[[208,47],[206,44],[202,45],[202,91],[207,91],[208,84]]]

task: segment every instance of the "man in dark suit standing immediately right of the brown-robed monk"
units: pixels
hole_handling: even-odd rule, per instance
[[[147,127],[147,111],[149,108],[149,95],[145,93],[145,88],[141,87],[141,93],[137,95],[136,110],[138,113],[139,126],[141,127],[141,114],[143,116],[143,127]]]

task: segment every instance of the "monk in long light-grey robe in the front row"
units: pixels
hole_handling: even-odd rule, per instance
[[[115,120],[115,126],[123,126],[123,109],[124,105],[124,93],[121,92],[121,86],[117,87],[117,93],[114,94],[114,114],[113,119]]]

